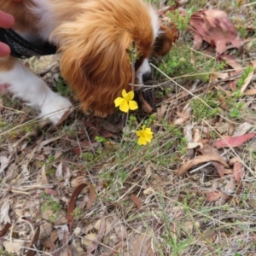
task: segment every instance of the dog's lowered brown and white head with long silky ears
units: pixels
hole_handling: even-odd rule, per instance
[[[173,34],[141,0],[91,0],[81,3],[76,20],[53,32],[60,45],[61,73],[85,113],[106,117],[121,91],[143,83],[150,55],[165,55]]]

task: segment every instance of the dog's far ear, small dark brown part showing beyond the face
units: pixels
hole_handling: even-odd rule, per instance
[[[172,48],[172,43],[174,43],[178,38],[178,32],[176,26],[172,25],[172,29],[166,26],[160,26],[160,32],[154,42],[153,54],[158,56],[163,56],[168,53]]]

